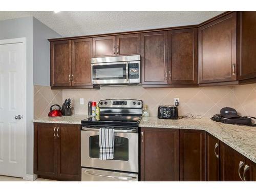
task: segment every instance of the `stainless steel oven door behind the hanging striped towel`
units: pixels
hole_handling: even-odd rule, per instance
[[[82,127],[81,166],[138,173],[138,133],[126,131],[115,133],[114,159],[100,160],[99,129]]]

